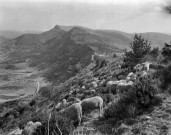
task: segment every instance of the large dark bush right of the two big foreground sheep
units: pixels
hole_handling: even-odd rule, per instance
[[[135,82],[132,89],[125,92],[116,103],[112,103],[104,112],[104,117],[116,118],[122,120],[124,118],[134,117],[139,110],[150,107],[156,90],[150,80],[143,79],[141,82]]]

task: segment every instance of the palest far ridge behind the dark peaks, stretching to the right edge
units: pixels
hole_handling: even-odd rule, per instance
[[[71,30],[74,26],[58,26],[63,30]],[[81,26],[77,26],[81,29],[86,30],[87,32],[99,36],[101,39],[106,40],[107,44],[115,46],[119,49],[129,49],[130,43],[133,40],[134,33],[126,33],[122,31],[116,30],[93,30]],[[151,41],[152,47],[162,48],[165,42],[171,41],[171,34],[167,33],[159,33],[159,32],[145,32],[145,33],[137,33],[141,34],[145,39]]]

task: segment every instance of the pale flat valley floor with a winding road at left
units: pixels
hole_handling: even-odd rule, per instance
[[[1,65],[0,103],[33,94],[46,84],[43,78],[39,77],[39,72],[28,67],[26,62]]]

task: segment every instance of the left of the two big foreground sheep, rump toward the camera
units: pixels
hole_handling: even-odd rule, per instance
[[[79,126],[81,124],[82,119],[82,105],[81,103],[74,103],[66,109],[59,111],[57,114],[63,114],[66,117],[69,117],[71,120],[74,121],[75,126]]]

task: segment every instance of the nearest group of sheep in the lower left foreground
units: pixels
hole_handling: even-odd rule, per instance
[[[61,101],[60,105],[64,104],[67,104],[65,99]],[[56,109],[58,107],[59,106],[55,106]],[[81,124],[82,114],[94,109],[99,109],[99,116],[101,116],[103,111],[103,99],[99,96],[87,98],[78,103],[74,103],[66,109],[58,111],[57,114],[65,115],[73,120],[74,123],[77,124],[76,126],[78,126]],[[29,121],[23,129],[22,135],[32,135],[38,126],[41,126],[40,122],[33,123],[32,121]]]

